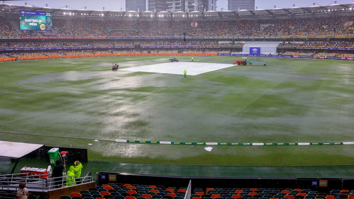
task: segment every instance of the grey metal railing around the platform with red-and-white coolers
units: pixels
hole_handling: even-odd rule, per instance
[[[22,174],[7,174],[0,175],[0,188],[2,190],[15,190],[18,189],[18,184],[20,182],[25,182],[28,189],[41,189],[42,191],[47,191],[50,189],[61,188],[68,186],[73,182],[80,182],[80,184],[93,182],[93,177],[91,173],[88,173],[85,177],[76,178],[75,175],[63,176],[63,177],[51,177],[50,174],[40,174],[40,175],[28,175],[29,173]],[[25,175],[25,176],[16,176]],[[14,177],[15,176],[15,177]],[[43,177],[45,176],[45,177]],[[47,177],[49,176],[49,177]],[[67,179],[66,177],[73,177],[72,179]]]

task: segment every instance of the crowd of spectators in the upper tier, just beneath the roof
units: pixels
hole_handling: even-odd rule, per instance
[[[207,21],[104,20],[73,17],[53,18],[53,32],[19,33],[0,18],[4,36],[320,36],[353,35],[353,16]],[[14,21],[13,23],[19,23]]]

